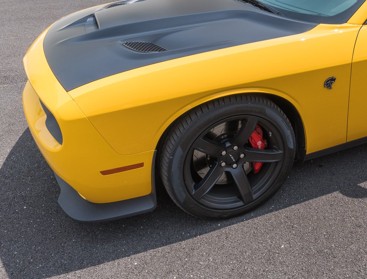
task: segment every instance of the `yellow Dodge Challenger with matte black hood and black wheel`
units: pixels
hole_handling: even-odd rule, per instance
[[[202,218],[273,196],[295,159],[367,142],[364,0],[127,0],[24,57],[30,131],[73,220]]]

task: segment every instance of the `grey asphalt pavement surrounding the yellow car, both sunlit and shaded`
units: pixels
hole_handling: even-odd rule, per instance
[[[23,115],[22,57],[52,22],[102,3],[1,0],[0,278],[367,278],[367,145],[296,163],[272,199],[225,221],[184,213],[160,183],[148,214],[63,214]]]

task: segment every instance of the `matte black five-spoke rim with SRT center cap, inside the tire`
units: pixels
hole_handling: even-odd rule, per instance
[[[222,141],[221,138],[218,140],[208,137],[215,126],[231,121],[239,122],[240,127],[230,137]],[[268,130],[271,131],[271,136],[267,135],[266,149],[255,149],[248,144],[257,125],[262,128],[264,135]],[[203,177],[195,175],[195,170],[193,170],[194,150],[205,153],[207,157],[211,158],[209,170]],[[188,191],[199,203],[218,209],[244,206],[252,203],[269,188],[283,160],[284,148],[281,135],[268,120],[248,115],[228,117],[209,127],[193,142],[185,159],[184,179]],[[265,164],[263,170],[258,174],[246,174],[243,168],[246,162]],[[232,196],[227,194],[223,188],[217,189],[219,193],[217,195],[213,190],[224,173],[232,177]]]

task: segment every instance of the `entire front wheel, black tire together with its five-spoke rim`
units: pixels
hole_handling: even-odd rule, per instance
[[[264,150],[249,141],[257,125]],[[160,174],[172,200],[187,213],[227,218],[272,197],[294,156],[294,131],[278,106],[260,95],[232,95],[197,106],[172,125],[160,150]],[[264,162],[258,173],[254,162]]]

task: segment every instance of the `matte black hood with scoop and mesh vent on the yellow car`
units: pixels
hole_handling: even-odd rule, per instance
[[[76,12],[48,30],[44,51],[65,90],[142,66],[315,27],[237,0],[128,0],[121,4]],[[139,52],[125,42],[149,42],[164,51]]]

